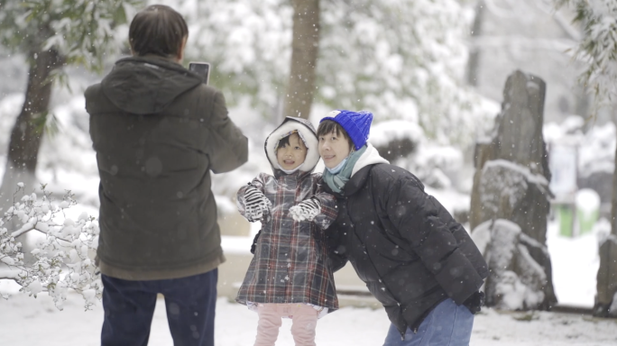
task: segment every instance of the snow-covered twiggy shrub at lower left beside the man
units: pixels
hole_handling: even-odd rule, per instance
[[[47,292],[60,310],[69,289],[83,296],[86,309],[96,305],[103,291],[91,258],[98,245],[98,223],[86,213],[69,218],[69,208],[77,204],[70,191],[56,201],[44,185],[37,195],[18,184],[13,206],[0,218],[0,279],[14,280],[30,296]],[[25,261],[19,240],[32,231],[44,237],[30,251],[33,259]]]

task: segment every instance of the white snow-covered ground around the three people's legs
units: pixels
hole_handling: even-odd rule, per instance
[[[154,313],[150,346],[171,345],[165,305],[160,299]],[[10,346],[97,345],[103,311],[84,312],[79,296],[69,297],[59,311],[49,296],[33,299],[17,295],[0,301],[0,344]],[[382,309],[344,307],[318,322],[317,344],[381,345],[389,322]],[[251,345],[257,314],[244,305],[220,298],[216,305],[216,344]],[[291,345],[290,321],[284,320],[276,345]],[[617,344],[617,320],[557,313],[502,313],[484,308],[474,322],[471,345],[487,346],[601,346]]]

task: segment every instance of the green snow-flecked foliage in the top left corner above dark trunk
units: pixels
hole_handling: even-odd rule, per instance
[[[115,28],[127,23],[143,0],[5,0],[0,42],[27,57],[57,50],[67,65],[100,71],[120,43]],[[124,38],[125,40],[125,38]]]

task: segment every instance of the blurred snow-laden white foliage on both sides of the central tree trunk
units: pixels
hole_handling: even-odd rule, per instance
[[[290,73],[290,2],[178,9],[191,32],[187,59],[213,64],[212,84],[229,105],[248,96],[263,118],[277,114]],[[375,123],[417,123],[440,144],[469,144],[493,114],[463,82],[471,18],[456,0],[321,2],[315,103],[370,110]]]

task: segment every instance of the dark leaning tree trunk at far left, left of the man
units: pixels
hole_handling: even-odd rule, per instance
[[[23,182],[33,189],[39,148],[51,99],[51,71],[62,65],[56,50],[32,53],[28,87],[22,112],[11,132],[5,176],[0,187],[0,205],[12,205],[16,184]]]

